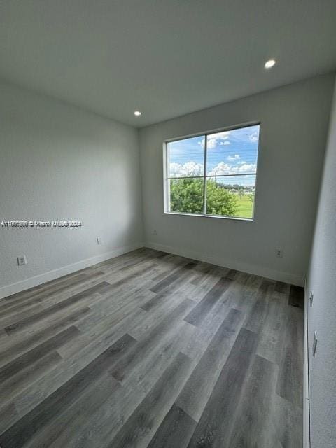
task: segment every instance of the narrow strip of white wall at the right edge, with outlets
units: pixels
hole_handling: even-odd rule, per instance
[[[311,447],[336,447],[336,85],[307,277]],[[317,332],[316,356],[311,353]]]

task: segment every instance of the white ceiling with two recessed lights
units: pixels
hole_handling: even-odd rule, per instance
[[[2,78],[135,126],[335,69],[335,0],[0,3]]]

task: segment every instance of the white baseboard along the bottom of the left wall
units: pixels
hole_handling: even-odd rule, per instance
[[[21,291],[29,288],[34,288],[34,286],[41,285],[46,281],[55,280],[64,275],[72,274],[72,272],[79,271],[80,269],[85,269],[85,267],[97,265],[97,263],[109,260],[110,258],[116,258],[119,255],[123,255],[123,253],[135,251],[136,249],[139,249],[141,247],[144,247],[143,243],[131,244],[130,246],[116,248],[113,249],[113,251],[105,252],[101,255],[96,255],[95,257],[87,258],[85,260],[80,260],[71,265],[59,267],[58,269],[54,269],[52,271],[44,272],[43,274],[30,277],[29,279],[11,283],[10,285],[6,285],[0,288],[0,299],[3,297],[7,297],[8,295],[20,293]]]

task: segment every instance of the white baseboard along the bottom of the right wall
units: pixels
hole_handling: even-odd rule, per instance
[[[303,447],[310,448],[309,346],[308,346],[308,291],[304,281],[304,346],[303,346]]]

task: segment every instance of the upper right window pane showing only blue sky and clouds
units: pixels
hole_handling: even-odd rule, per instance
[[[259,125],[207,136],[207,175],[257,172]]]

